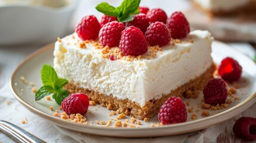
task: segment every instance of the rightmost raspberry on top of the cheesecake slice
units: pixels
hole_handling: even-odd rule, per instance
[[[167,27],[171,30],[172,38],[182,39],[190,32],[189,22],[181,12],[175,12],[166,21]]]

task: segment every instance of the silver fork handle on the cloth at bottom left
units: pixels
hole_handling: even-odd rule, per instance
[[[0,120],[0,131],[16,142],[45,143],[45,141],[42,141],[41,139],[27,132],[26,130],[23,130],[18,126],[3,120]]]

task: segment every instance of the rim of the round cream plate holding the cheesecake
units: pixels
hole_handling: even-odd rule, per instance
[[[221,44],[221,45],[224,45],[224,46],[229,46],[226,43],[223,43],[223,42],[220,42],[220,41],[214,41],[214,42],[218,43],[218,44]],[[204,117],[202,119],[192,120],[192,121],[189,121],[189,122],[177,123],[177,124],[165,125],[165,126],[159,126],[159,127],[155,127],[155,128],[151,128],[151,127],[141,127],[141,128],[104,128],[104,127],[101,127],[101,126],[82,125],[82,124],[79,124],[79,123],[69,122],[67,120],[63,120],[63,119],[60,119],[58,117],[54,117],[54,116],[52,116],[50,114],[44,113],[43,111],[39,110],[38,108],[33,107],[31,104],[29,104],[26,101],[24,101],[17,94],[17,92],[14,90],[14,76],[16,75],[18,69],[20,69],[20,67],[23,66],[23,64],[27,63],[27,61],[31,60],[32,58],[36,57],[37,55],[41,54],[42,52],[45,52],[45,51],[50,50],[51,48],[54,48],[54,43],[55,42],[52,42],[52,43],[50,43],[50,44],[48,44],[46,46],[43,46],[42,48],[39,48],[38,50],[36,50],[32,54],[30,54],[28,57],[26,57],[23,61],[21,61],[20,64],[18,64],[18,66],[14,70],[13,74],[11,75],[10,88],[11,88],[11,92],[13,93],[14,97],[16,98],[16,100],[18,102],[20,102],[25,108],[27,108],[27,110],[31,111],[34,114],[37,114],[38,116],[44,118],[45,120],[50,121],[51,123],[54,123],[55,125],[62,126],[64,128],[67,128],[67,129],[74,130],[72,128],[69,128],[68,125],[76,126],[76,127],[79,127],[79,128],[82,127],[82,128],[94,129],[94,130],[98,130],[98,129],[100,129],[100,130],[115,130],[115,131],[120,131],[120,132],[122,132],[122,131],[131,131],[131,130],[133,130],[133,131],[134,130],[136,130],[136,131],[143,131],[143,130],[149,130],[149,129],[150,130],[159,130],[159,129],[168,129],[168,128],[171,129],[171,128],[175,128],[177,126],[179,126],[180,128],[184,128],[184,127],[186,127],[188,125],[196,125],[196,124],[198,124],[200,122],[206,122],[207,120],[215,120],[217,117],[230,114],[230,113],[232,113],[232,111],[237,110],[238,108],[241,108],[244,105],[248,105],[247,108],[249,108],[252,104],[254,104],[254,102],[256,100],[256,92],[254,92],[254,94],[249,95],[249,97],[246,98],[244,101],[240,102],[239,104],[235,105],[232,108],[229,108],[229,109],[227,109],[225,111],[222,111],[221,113],[214,114],[214,115],[209,116],[209,117]],[[238,54],[243,54],[243,53],[241,53],[239,51],[236,51],[233,48],[230,48],[230,50],[233,50],[234,52],[236,52]],[[245,54],[243,54],[243,56],[246,57]],[[249,58],[249,57],[246,57],[246,58],[248,58],[248,60],[251,60],[251,58]],[[252,61],[252,62],[254,63],[254,61]],[[255,66],[256,66],[256,64],[255,64]],[[242,111],[246,110],[247,108],[243,109]],[[242,111],[240,111],[239,113],[241,113]],[[231,119],[232,117],[235,117],[239,113],[230,115],[228,119]],[[190,129],[190,130],[186,130],[186,131],[183,131],[183,132],[177,132],[177,133],[174,133],[174,134],[171,134],[171,135],[179,135],[181,133],[187,133],[187,132],[192,132],[192,131],[195,131],[195,130],[205,129],[205,128],[208,128],[209,126],[212,126],[212,125],[224,122],[225,120],[228,120],[228,119],[226,119],[226,118],[218,119],[218,122],[216,122],[216,121],[212,122],[209,125],[202,126],[201,128]],[[64,125],[67,125],[67,126],[64,126]],[[78,130],[75,130],[75,131],[78,131]],[[83,132],[83,131],[84,130],[81,130],[80,132]],[[84,132],[84,133],[89,133],[89,132]],[[91,132],[90,132],[90,134],[102,135],[102,133],[91,133]],[[168,135],[168,134],[166,134],[166,135]],[[166,135],[156,135],[156,136],[166,136]],[[106,136],[118,136],[118,137],[134,138],[134,136],[122,136],[122,135],[106,135]],[[150,135],[150,136],[152,136],[152,135]],[[148,137],[148,136],[137,135],[137,137]]]

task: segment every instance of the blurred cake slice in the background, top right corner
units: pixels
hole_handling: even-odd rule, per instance
[[[195,6],[214,16],[254,15],[255,0],[192,0]]]

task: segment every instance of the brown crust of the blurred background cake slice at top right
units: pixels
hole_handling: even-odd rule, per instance
[[[206,10],[205,8],[201,7],[198,2],[195,0],[192,0],[193,6],[204,13],[210,15],[210,16],[216,16],[216,17],[231,17],[231,16],[240,16],[240,17],[246,17],[246,16],[255,16],[256,14],[256,2],[251,1],[247,5],[244,5],[242,7],[235,8],[233,10],[225,11],[225,10],[219,10],[219,11],[211,11]]]

